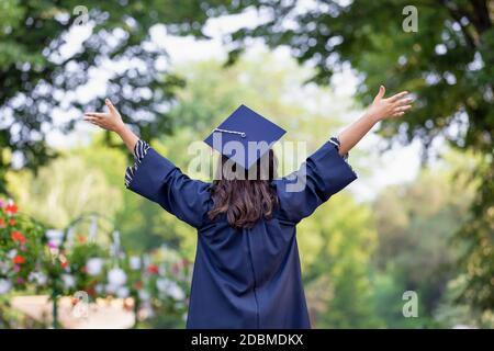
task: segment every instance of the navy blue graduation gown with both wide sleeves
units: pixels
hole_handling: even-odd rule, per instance
[[[190,179],[153,148],[128,189],[198,230],[188,328],[296,329],[311,327],[296,224],[355,179],[327,141],[297,171],[271,182],[280,203],[273,217],[244,229],[225,216],[210,220],[211,183]]]

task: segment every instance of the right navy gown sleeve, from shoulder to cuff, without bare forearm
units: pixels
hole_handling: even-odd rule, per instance
[[[277,180],[281,216],[296,224],[356,180],[347,157],[339,155],[339,140],[330,138],[299,170]]]

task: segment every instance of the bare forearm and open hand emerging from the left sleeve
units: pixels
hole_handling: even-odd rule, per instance
[[[108,112],[86,112],[85,121],[88,121],[103,129],[115,132],[125,143],[128,151],[134,154],[135,145],[139,138],[125,125],[125,123],[123,123],[122,116],[110,99],[105,99],[104,103],[106,104]]]

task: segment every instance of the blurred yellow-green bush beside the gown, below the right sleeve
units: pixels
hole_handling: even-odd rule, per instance
[[[297,241],[314,326],[379,326],[369,281],[377,244],[370,208],[338,194],[299,225]]]

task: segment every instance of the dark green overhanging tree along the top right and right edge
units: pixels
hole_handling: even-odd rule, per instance
[[[418,31],[402,27],[408,4],[390,1],[238,1],[263,14],[257,26],[229,35],[235,59],[248,38],[270,46],[287,45],[301,63],[316,66],[314,80],[327,83],[333,72],[352,67],[361,78],[359,98],[368,103],[379,84],[408,90],[415,107],[405,120],[382,123],[391,141],[425,146],[437,138],[480,155],[472,173],[481,180],[470,208],[472,218],[459,236],[468,242],[463,256],[469,284],[463,296],[475,306],[494,305],[494,2],[492,0],[420,0]],[[235,10],[237,10],[235,8]],[[390,143],[391,145],[391,143]],[[472,273],[475,272],[475,273]]]

